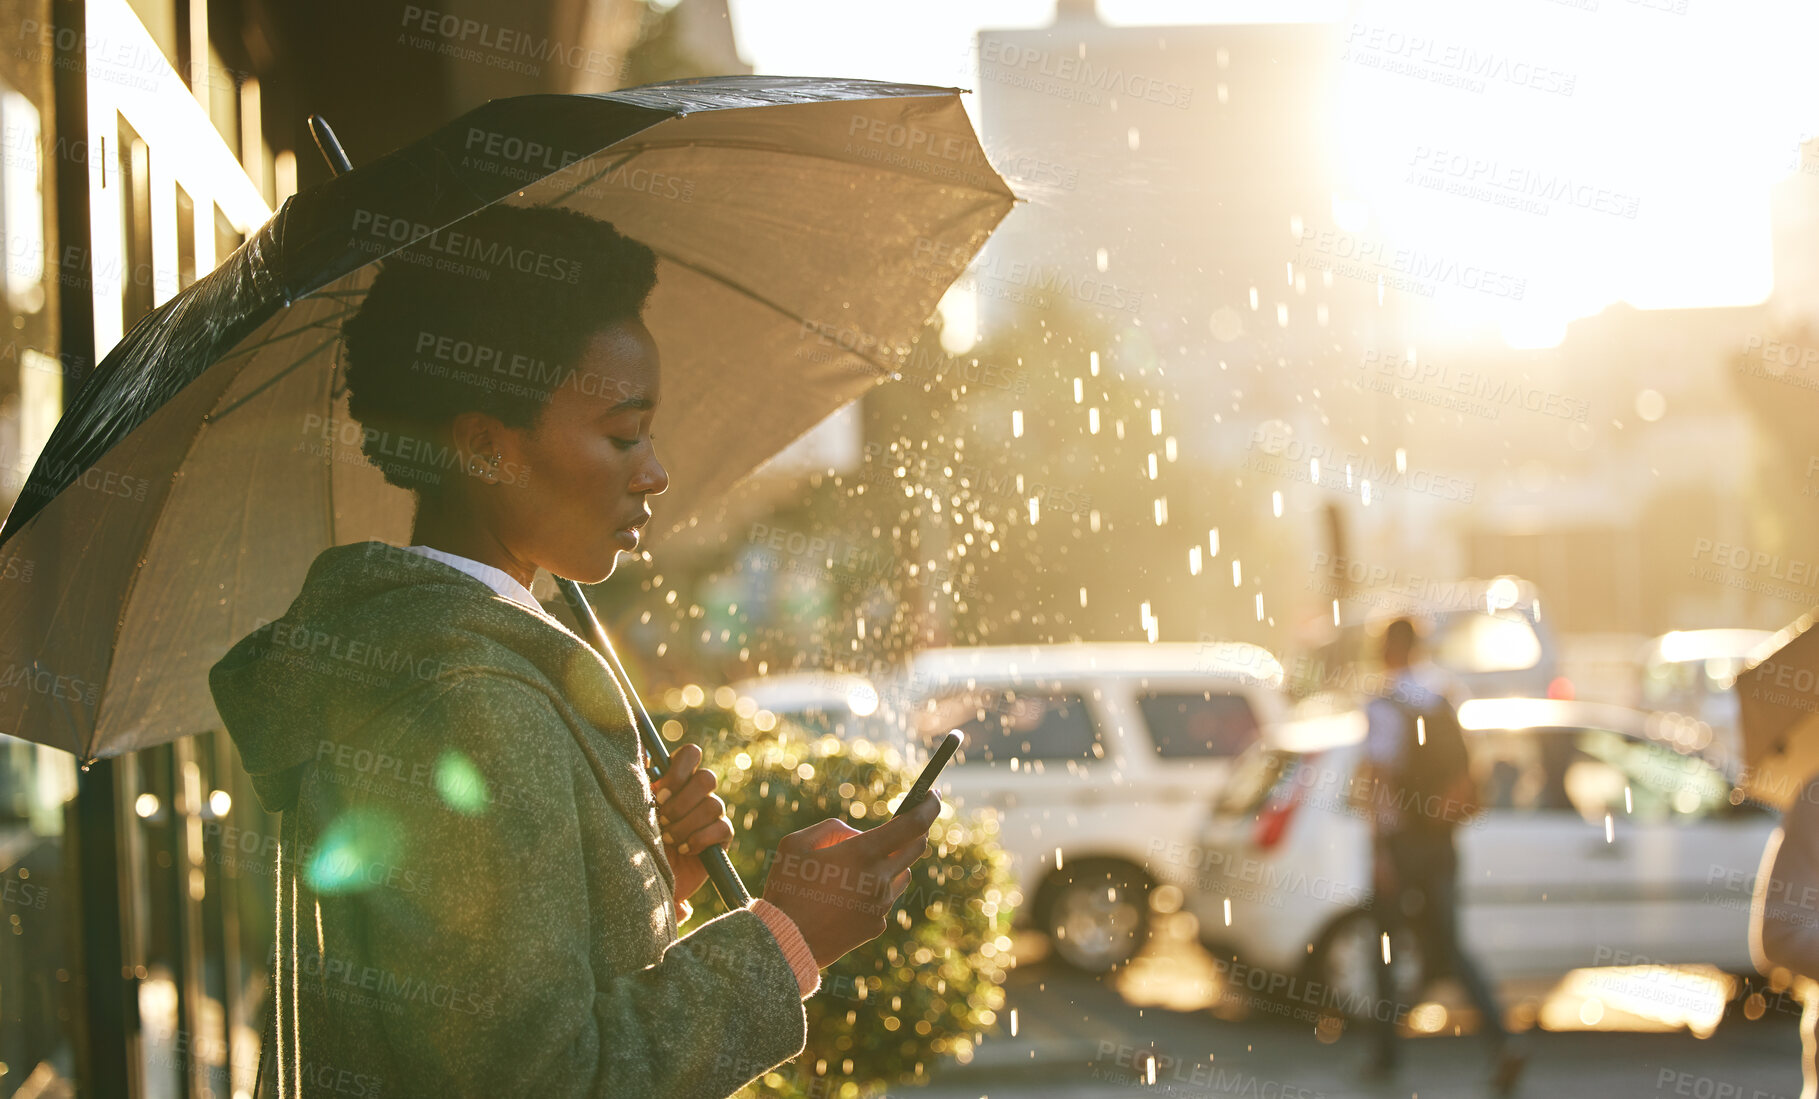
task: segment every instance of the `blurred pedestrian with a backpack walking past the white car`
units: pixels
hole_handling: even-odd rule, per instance
[[[1366,708],[1364,757],[1357,790],[1370,806],[1372,881],[1379,941],[1408,928],[1421,944],[1421,986],[1452,973],[1484,1019],[1492,1043],[1492,1086],[1508,1095],[1526,1054],[1502,1026],[1502,1006],[1459,937],[1459,852],[1453,833],[1479,812],[1459,713],[1432,675],[1417,675],[1415,624],[1395,619],[1382,633],[1384,690]],[[1428,679],[1428,682],[1422,682]],[[1366,1075],[1395,1075],[1395,1026],[1413,997],[1399,1003],[1388,959],[1377,959],[1377,1003]],[[1417,986],[1413,993],[1422,988]]]

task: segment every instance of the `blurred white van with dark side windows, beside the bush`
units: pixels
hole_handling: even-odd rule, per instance
[[[966,733],[940,790],[997,810],[1017,924],[1106,972],[1148,937],[1151,890],[1190,884],[1157,852],[1195,839],[1231,761],[1281,721],[1281,684],[1277,659],[1239,642],[926,650],[877,681],[871,728],[917,753]]]

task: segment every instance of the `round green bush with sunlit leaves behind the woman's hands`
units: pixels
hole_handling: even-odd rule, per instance
[[[678,739],[700,744],[719,775],[733,866],[753,895],[779,839],[828,817],[871,828],[915,781],[895,748],[788,722],[762,731],[711,701],[653,717],[671,748]],[[942,808],[931,852],[911,868],[884,933],[822,970],[820,992],[804,1004],[808,1048],[742,1095],[857,1099],[926,1083],[940,1057],[971,1059],[1004,1004],[1013,892],[997,819],[970,817]],[[724,912],[711,884],[689,902],[682,933]]]

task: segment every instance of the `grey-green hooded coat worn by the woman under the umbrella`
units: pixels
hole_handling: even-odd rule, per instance
[[[266,1094],[695,1099],[802,1052],[757,913],[677,939],[629,704],[549,615],[337,546],[209,688],[284,813]]]

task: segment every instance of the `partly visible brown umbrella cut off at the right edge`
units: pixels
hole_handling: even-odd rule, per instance
[[[1764,640],[1735,686],[1743,786],[1783,808],[1819,773],[1819,630],[1812,626],[1806,613]]]

